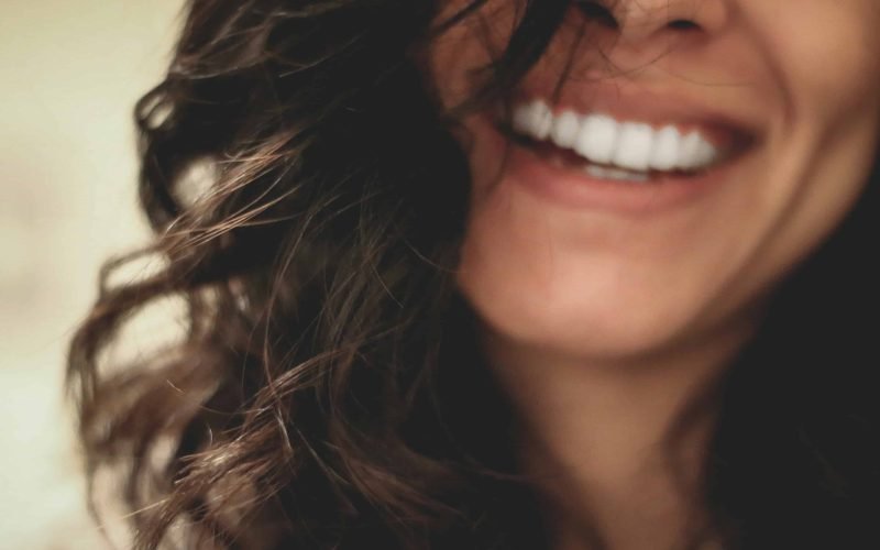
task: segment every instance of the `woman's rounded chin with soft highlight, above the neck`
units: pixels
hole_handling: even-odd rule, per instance
[[[627,287],[595,272],[581,275],[574,272],[556,284],[543,277],[482,278],[465,264],[459,287],[495,340],[570,360],[636,360],[711,330],[703,327],[704,308],[693,288],[685,296],[653,286]]]

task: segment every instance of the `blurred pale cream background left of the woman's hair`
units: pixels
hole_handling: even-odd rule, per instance
[[[62,380],[107,257],[143,243],[132,109],[182,0],[0,4],[0,549],[98,549]]]

